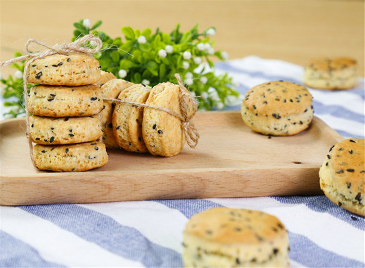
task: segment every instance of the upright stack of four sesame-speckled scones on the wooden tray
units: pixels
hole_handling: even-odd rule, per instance
[[[99,113],[103,100],[96,83],[99,62],[84,54],[52,55],[29,66],[28,109],[35,165],[39,170],[76,172],[105,165]]]

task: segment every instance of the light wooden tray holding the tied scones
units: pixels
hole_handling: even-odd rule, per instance
[[[39,172],[31,163],[25,120],[0,122],[0,205],[147,199],[320,194],[318,170],[343,139],[319,118],[293,136],[257,134],[239,111],[199,112],[195,149],[173,157],[108,150],[87,172]]]

